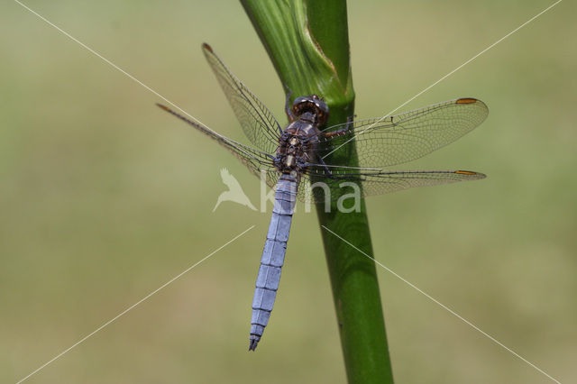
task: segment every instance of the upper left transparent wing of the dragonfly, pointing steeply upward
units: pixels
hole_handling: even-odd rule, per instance
[[[279,122],[243,82],[233,75],[208,44],[203,44],[202,50],[246,137],[261,151],[274,153],[282,133]]]

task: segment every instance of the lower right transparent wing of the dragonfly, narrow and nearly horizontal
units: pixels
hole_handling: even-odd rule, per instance
[[[478,180],[485,175],[469,170],[385,170],[312,165],[307,167],[303,178],[307,183],[301,183],[301,189],[307,189],[299,197],[323,203],[337,200],[343,194],[358,193],[360,197],[366,197],[411,187]]]

